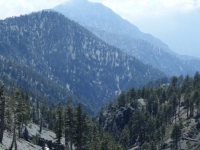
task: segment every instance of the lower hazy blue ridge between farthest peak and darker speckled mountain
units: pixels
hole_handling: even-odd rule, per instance
[[[109,44],[135,56],[145,64],[162,70],[167,75],[194,75],[196,71],[200,70],[200,59],[198,58],[181,56],[129,35],[118,36],[98,29],[91,29],[91,31]]]

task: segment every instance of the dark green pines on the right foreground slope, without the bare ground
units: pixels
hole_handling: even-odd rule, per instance
[[[122,149],[136,142],[147,143],[150,149],[157,149],[164,141],[167,126],[181,120],[179,118],[181,100],[184,100],[190,117],[193,117],[195,107],[197,110],[200,108],[198,86],[193,86],[193,82],[195,81],[188,75],[185,78],[174,76],[171,78],[171,84],[166,83],[164,86],[160,84],[155,88],[144,86],[137,91],[135,89],[123,91],[116,102],[110,103],[107,111],[100,113],[99,121],[120,143]],[[138,101],[138,98],[142,99]],[[129,109],[132,113],[129,113],[131,115],[126,122],[126,111]],[[200,111],[198,112],[200,114]],[[118,121],[118,118],[121,121]]]

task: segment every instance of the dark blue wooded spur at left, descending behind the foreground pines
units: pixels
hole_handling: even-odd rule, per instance
[[[5,92],[9,93],[17,88],[29,93],[32,99],[41,102],[48,100],[50,104],[58,101],[65,102],[72,99],[74,104],[78,98],[53,80],[34,71],[25,64],[20,64],[0,55],[0,85],[5,85]]]

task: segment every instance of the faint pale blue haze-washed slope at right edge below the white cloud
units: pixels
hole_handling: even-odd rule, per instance
[[[195,6],[194,6],[195,7]],[[180,9],[180,8],[179,8]],[[142,31],[151,33],[165,41],[170,49],[200,58],[200,8],[177,11],[174,15],[139,20]]]

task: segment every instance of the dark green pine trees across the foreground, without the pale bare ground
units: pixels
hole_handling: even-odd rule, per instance
[[[70,150],[72,145],[77,150],[127,150],[136,143],[141,149],[153,150],[160,148],[167,126],[171,126],[174,119],[176,122],[180,99],[184,99],[190,117],[195,114],[194,109],[200,107],[199,86],[194,82],[198,82],[197,77],[194,80],[186,76],[182,84],[179,78],[173,77],[165,88],[131,88],[128,92],[123,91],[115,102],[102,107],[99,115],[93,118],[87,115],[81,104],[74,107],[72,101],[67,101],[66,107],[59,103],[53,110],[46,100],[37,99],[35,104],[31,104],[27,93],[13,90],[8,101],[10,107],[5,112],[9,116],[5,128],[13,132],[16,127],[20,137],[20,130],[30,116],[32,120],[38,120],[41,113],[47,127],[56,132],[57,149],[60,149],[61,137],[65,135],[65,146]],[[138,101],[141,97],[143,99]],[[171,133],[175,147],[183,127],[182,122],[179,123],[173,126]],[[192,128],[191,136],[196,133],[196,128]]]

